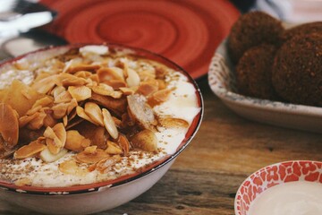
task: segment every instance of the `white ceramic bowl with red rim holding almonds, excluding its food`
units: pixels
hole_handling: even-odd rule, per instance
[[[21,58],[25,58],[28,61],[33,62],[37,61],[39,57],[50,55],[50,53],[57,53],[65,50],[66,48],[69,49],[72,47],[82,46],[84,46],[84,44],[41,49],[0,64],[0,71],[4,69],[5,66],[13,64],[16,60]],[[89,214],[112,209],[125,202],[131,201],[141,193],[146,192],[152,185],[156,184],[157,181],[165,175],[168,168],[170,168],[174,163],[174,159],[176,159],[182,150],[185,149],[189,142],[191,142],[193,136],[197,133],[203,115],[203,101],[196,82],[193,81],[188,73],[165,57],[158,56],[146,50],[115,44],[108,44],[107,46],[119,49],[131,49],[131,51],[134,51],[135,55],[144,56],[166,64],[188,77],[189,82],[191,82],[196,89],[196,96],[201,110],[193,119],[184,140],[173,155],[169,155],[165,159],[158,160],[156,163],[143,168],[140,173],[121,176],[114,180],[101,183],[46,188],[17,186],[0,181],[0,200],[2,201],[0,205],[2,207],[4,207],[3,205],[5,202],[8,202],[14,205],[13,207],[10,207],[9,210],[17,209],[16,206],[19,206],[18,209],[20,211],[21,208],[24,208],[30,211],[51,214]],[[5,211],[5,209],[0,209],[0,211],[2,210]]]

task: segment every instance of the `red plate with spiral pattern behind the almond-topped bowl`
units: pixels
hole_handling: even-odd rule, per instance
[[[142,47],[181,65],[193,78],[208,73],[217,45],[239,16],[226,0],[42,0],[58,12],[47,30],[70,43]]]

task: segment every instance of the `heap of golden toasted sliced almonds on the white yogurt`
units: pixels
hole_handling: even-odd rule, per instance
[[[85,55],[72,48],[30,66],[35,77],[30,85],[14,80],[0,90],[0,159],[34,157],[50,163],[64,158],[57,162],[61,173],[86,176],[162,151],[157,126],[189,126],[180,118],[157,116],[153,108],[171,96],[172,77],[165,78],[169,68],[119,54],[112,49]],[[20,67],[29,69],[28,64]]]

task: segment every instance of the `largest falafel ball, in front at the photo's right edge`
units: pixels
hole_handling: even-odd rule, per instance
[[[292,103],[322,106],[322,35],[295,36],[277,51],[272,82]]]

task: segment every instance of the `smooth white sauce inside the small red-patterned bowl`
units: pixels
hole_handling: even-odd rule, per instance
[[[248,215],[322,214],[322,184],[288,182],[270,187],[251,202]]]

